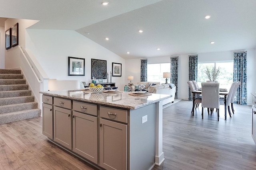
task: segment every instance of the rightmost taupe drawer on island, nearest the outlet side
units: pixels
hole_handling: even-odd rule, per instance
[[[127,123],[127,110],[100,106],[100,117]]]

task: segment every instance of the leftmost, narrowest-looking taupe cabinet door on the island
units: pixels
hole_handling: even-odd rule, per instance
[[[53,115],[52,105],[42,105],[42,133],[50,139],[53,139]]]

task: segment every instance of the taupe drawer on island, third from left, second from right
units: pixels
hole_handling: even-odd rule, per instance
[[[88,104],[84,102],[73,101],[73,110],[88,113],[91,115],[97,115],[97,105]]]

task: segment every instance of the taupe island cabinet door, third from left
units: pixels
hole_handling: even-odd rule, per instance
[[[98,163],[97,117],[73,111],[73,151]]]

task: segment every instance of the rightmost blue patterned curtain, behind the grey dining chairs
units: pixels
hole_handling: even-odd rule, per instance
[[[234,52],[234,74],[233,81],[240,81],[234,96],[234,104],[247,105],[247,51]]]

